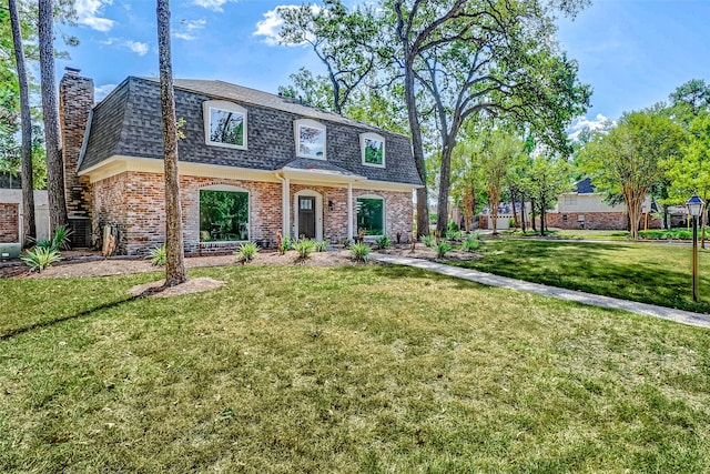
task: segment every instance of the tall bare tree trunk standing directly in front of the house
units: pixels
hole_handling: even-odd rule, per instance
[[[160,101],[165,157],[165,288],[169,288],[185,282],[187,278],[185,275],[182,210],[180,208],[178,123],[175,119],[175,91],[173,89],[173,67],[170,47],[169,0],[158,0],[156,14]]]

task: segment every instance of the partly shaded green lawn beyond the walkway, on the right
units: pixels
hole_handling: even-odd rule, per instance
[[[459,266],[552,286],[710,313],[710,253],[699,250],[692,301],[688,245],[487,240],[480,260]]]

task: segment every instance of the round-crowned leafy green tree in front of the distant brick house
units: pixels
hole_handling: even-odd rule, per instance
[[[580,150],[580,162],[596,185],[623,196],[633,239],[638,239],[641,204],[663,179],[661,164],[680,155],[684,140],[682,128],[669,118],[631,112],[617,125],[595,133]]]

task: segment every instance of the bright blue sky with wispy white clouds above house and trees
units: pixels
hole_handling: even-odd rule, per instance
[[[296,2],[173,0],[175,77],[220,79],[268,92],[301,67],[318,70],[311,51],[274,43],[274,9]],[[102,97],[126,75],[158,75],[155,2],[78,0],[79,26],[63,27],[81,43],[71,60],[94,79]],[[681,83],[710,82],[710,1],[596,0],[574,20],[559,21],[558,39],[579,75],[594,88],[592,107],[577,124],[618,119],[666,100]]]

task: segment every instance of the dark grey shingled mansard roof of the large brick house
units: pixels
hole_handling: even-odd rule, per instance
[[[254,89],[222,81],[175,79],[175,110],[184,119],[185,138],[178,143],[181,161],[246,168],[280,170],[301,165],[296,160],[293,123],[296,119],[314,119],[326,125],[324,167],[371,180],[422,184],[409,140],[374,127],[315,109]],[[247,150],[234,150],[205,144],[202,103],[229,100],[247,110]],[[160,84],[155,79],[129,77],[92,112],[92,121],[82,154],[80,170],[87,170],[112,155],[163,158]],[[359,134],[376,131],[385,138],[386,168],[362,164]]]

